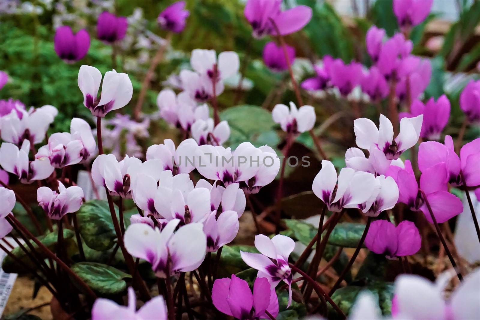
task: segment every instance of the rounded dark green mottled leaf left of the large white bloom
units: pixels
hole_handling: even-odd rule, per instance
[[[119,219],[116,207],[115,212]],[[107,201],[86,201],[78,210],[77,219],[80,233],[88,247],[97,251],[105,251],[113,247],[117,235]]]

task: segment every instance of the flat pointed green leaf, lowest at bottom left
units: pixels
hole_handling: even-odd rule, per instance
[[[72,270],[100,295],[116,295],[125,291],[127,283],[124,278],[132,278],[114,267],[97,262],[78,262]]]

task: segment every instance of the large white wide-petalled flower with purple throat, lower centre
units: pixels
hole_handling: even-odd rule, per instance
[[[132,256],[148,261],[159,278],[193,271],[205,259],[203,225],[183,225],[174,233],[179,223],[180,219],[173,219],[161,231],[146,224],[130,225],[123,237],[125,248]]]

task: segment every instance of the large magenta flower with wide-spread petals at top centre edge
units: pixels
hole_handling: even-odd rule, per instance
[[[277,35],[270,19],[275,22],[280,35],[285,36],[299,31],[312,18],[312,9],[310,7],[299,5],[292,9],[281,11],[281,4],[281,0],[247,1],[243,13],[252,25],[252,35],[255,38]]]

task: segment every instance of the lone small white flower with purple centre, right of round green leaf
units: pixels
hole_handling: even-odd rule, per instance
[[[276,105],[272,110],[272,118],[285,132],[301,133],[312,130],[316,115],[312,106],[297,106],[290,102],[290,110],[283,104]]]

